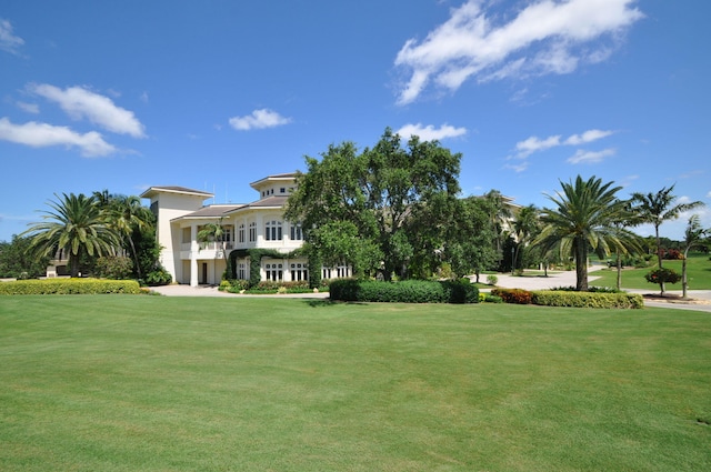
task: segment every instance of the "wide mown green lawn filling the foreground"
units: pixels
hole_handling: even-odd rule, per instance
[[[0,297],[2,471],[708,471],[711,317]]]

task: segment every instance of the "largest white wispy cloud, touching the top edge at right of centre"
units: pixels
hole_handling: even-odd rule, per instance
[[[399,104],[417,100],[430,82],[455,91],[470,78],[562,74],[599,63],[612,54],[620,33],[643,18],[637,0],[538,0],[500,22],[505,14],[482,3],[469,0],[424,40],[405,41],[394,61],[410,74]]]

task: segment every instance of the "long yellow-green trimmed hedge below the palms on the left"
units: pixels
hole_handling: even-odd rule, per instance
[[[98,293],[143,293],[134,280],[47,279],[0,282],[2,295],[68,295]]]

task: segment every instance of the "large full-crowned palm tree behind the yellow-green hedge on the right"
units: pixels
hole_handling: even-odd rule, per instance
[[[587,181],[578,175],[574,183],[561,182],[561,193],[547,195],[558,208],[541,212],[543,229],[533,244],[550,248],[560,242],[561,254],[573,254],[579,291],[588,290],[589,248],[603,258],[611,249],[627,252],[623,239],[633,238],[630,231],[614,224],[624,211],[624,203],[615,198],[622,188],[613,188],[613,183],[603,184],[594,175]]]

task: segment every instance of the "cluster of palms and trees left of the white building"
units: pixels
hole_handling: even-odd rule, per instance
[[[71,277],[92,273],[146,283],[169,282],[159,264],[156,218],[138,197],[108,190],[54,194],[42,221],[0,245],[0,275],[44,275],[58,255],[68,260]]]

